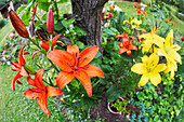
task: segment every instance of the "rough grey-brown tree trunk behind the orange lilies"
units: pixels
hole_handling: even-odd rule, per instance
[[[97,45],[102,51],[102,10],[108,0],[71,0],[73,16],[77,26],[87,32],[80,41]]]

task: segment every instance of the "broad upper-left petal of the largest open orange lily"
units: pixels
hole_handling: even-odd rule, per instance
[[[67,72],[73,71],[70,66],[74,66],[75,59],[70,53],[66,51],[54,50],[50,51],[47,57],[51,59],[56,66],[58,66],[62,70]]]

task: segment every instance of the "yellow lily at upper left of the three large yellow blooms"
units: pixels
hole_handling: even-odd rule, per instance
[[[165,39],[156,35],[157,29],[150,27],[150,32],[143,33],[140,36],[140,40],[142,38],[145,38],[145,40],[142,42],[141,46],[143,54],[145,52],[152,51],[153,44],[156,44],[158,46],[162,45],[165,42]]]

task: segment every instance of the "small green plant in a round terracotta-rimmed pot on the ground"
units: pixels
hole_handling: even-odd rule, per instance
[[[108,110],[114,114],[126,114],[129,113],[130,110],[128,110],[128,99],[123,99],[122,97],[119,97],[113,103],[108,103],[107,108]]]

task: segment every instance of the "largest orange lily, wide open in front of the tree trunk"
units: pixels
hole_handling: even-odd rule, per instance
[[[68,45],[67,51],[50,51],[47,57],[62,69],[56,78],[57,86],[63,89],[76,77],[91,97],[92,85],[90,77],[105,78],[104,72],[98,67],[89,64],[97,52],[98,46],[93,45],[79,53],[76,44],[73,46]]]

